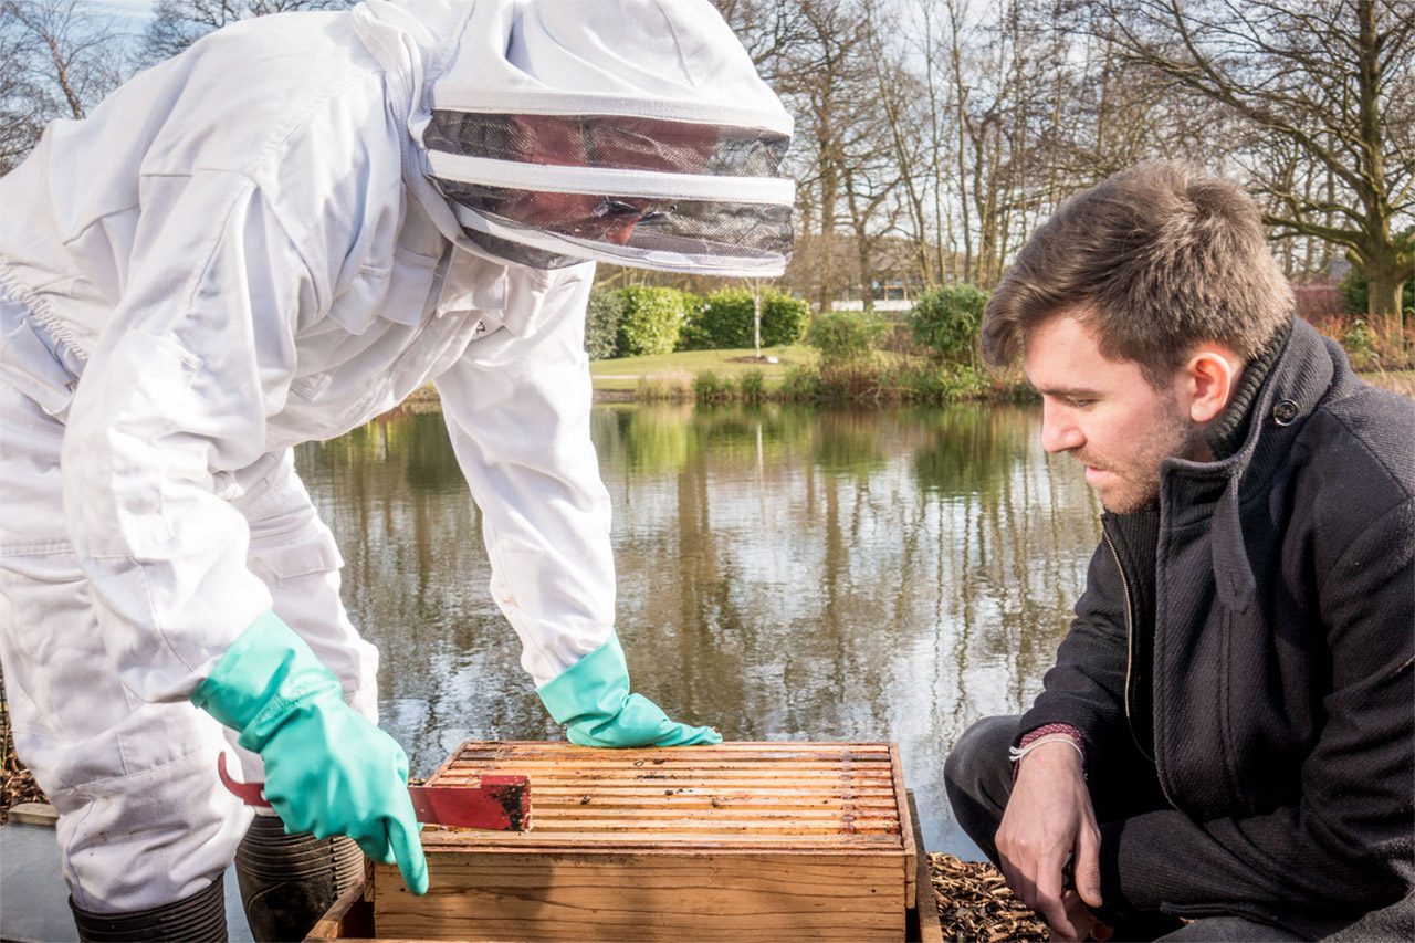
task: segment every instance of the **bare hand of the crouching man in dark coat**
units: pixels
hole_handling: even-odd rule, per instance
[[[1068,743],[1041,743],[1020,760],[996,841],[1002,875],[1046,919],[1053,940],[1109,936],[1088,909],[1101,905],[1101,830]],[[1074,891],[1065,886],[1068,864]]]

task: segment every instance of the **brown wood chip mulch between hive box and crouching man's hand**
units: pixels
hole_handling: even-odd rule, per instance
[[[1047,925],[1023,905],[990,864],[928,855],[944,939],[958,943],[1032,943],[1049,939]]]

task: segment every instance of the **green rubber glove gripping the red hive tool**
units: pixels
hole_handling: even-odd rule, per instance
[[[260,753],[265,796],[287,831],[348,835],[427,892],[403,748],[344,704],[338,678],[279,616],[250,623],[191,701]]]

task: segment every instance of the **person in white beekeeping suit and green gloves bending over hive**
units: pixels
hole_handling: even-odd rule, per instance
[[[790,132],[705,0],[371,0],[219,30],[0,181],[0,656],[83,939],[222,936],[233,857],[300,933],[337,888],[290,862],[352,871],[316,837],[426,889],[290,446],[429,379],[569,738],[717,742],[614,636],[589,261],[780,273]],[[245,844],[224,728],[283,820]]]

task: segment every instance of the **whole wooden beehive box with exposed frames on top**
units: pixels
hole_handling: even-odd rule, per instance
[[[637,750],[464,743],[429,784],[474,783],[490,773],[529,777],[531,830],[426,828],[432,889],[413,896],[396,868],[375,865],[372,888],[362,893],[372,903],[365,933],[416,940],[906,937],[920,850],[893,743]],[[333,916],[311,937],[354,936]]]

